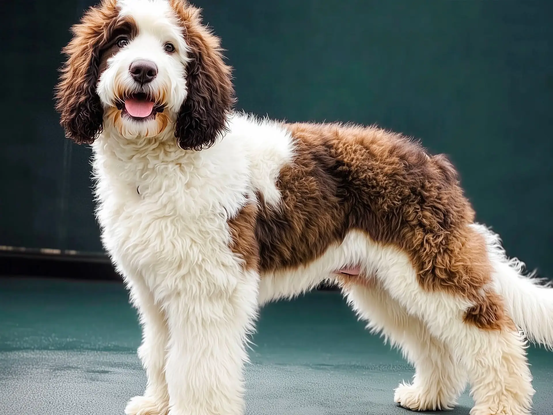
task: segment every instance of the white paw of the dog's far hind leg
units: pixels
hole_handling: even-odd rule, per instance
[[[456,402],[444,396],[442,391],[429,391],[409,383],[400,383],[395,388],[394,401],[411,411],[437,411],[452,409]]]

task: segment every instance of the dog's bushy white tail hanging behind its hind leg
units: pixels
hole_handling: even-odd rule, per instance
[[[473,226],[486,238],[495,289],[514,323],[529,340],[553,349],[553,288],[531,273],[525,275],[524,263],[507,257],[498,235],[486,226]]]

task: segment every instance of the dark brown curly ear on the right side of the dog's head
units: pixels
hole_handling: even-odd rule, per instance
[[[175,137],[183,149],[200,151],[212,146],[227,128],[234,103],[231,68],[223,62],[220,42],[201,24],[200,10],[172,0],[179,15],[189,63],[186,65],[186,100],[176,120]]]

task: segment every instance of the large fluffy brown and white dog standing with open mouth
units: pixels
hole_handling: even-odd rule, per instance
[[[90,144],[97,219],[138,309],[143,396],[127,415],[238,415],[259,307],[335,283],[415,367],[394,400],[529,414],[528,340],[553,290],[509,259],[443,155],[400,134],[233,110],[220,42],[185,0],[103,0],[56,88]]]

